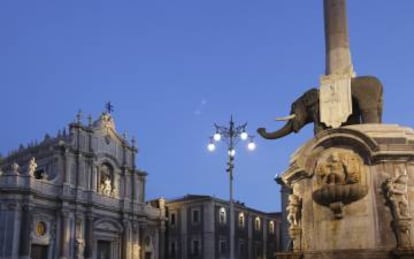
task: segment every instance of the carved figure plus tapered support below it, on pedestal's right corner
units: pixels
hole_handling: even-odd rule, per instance
[[[391,209],[392,227],[397,238],[398,249],[412,249],[410,240],[412,217],[408,208],[407,182],[408,175],[404,172],[395,178],[387,178],[382,185],[386,204]]]

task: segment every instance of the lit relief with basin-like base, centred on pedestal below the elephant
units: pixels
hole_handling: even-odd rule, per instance
[[[357,154],[330,150],[317,162],[317,186],[312,197],[316,203],[329,207],[335,218],[343,218],[344,205],[362,199],[368,193],[368,187],[362,182],[363,175],[364,164]]]

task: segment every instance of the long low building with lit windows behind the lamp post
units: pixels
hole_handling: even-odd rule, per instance
[[[168,200],[166,258],[229,258],[229,202],[187,195]],[[236,202],[234,254],[238,259],[271,259],[279,250],[280,214],[264,213]]]

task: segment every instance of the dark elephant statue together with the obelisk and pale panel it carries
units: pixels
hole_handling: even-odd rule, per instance
[[[310,89],[296,99],[287,123],[274,132],[257,129],[266,139],[278,139],[314,123],[314,133],[359,123],[381,123],[381,82],[373,76],[355,76],[348,41],[345,0],[324,0],[326,75],[320,89]]]

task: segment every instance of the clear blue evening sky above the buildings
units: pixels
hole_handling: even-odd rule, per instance
[[[349,0],[358,75],[384,84],[384,123],[414,119],[414,1]],[[214,123],[275,129],[273,118],[318,86],[325,69],[320,1],[0,2],[0,152],[96,118],[106,101],[117,129],[138,142],[147,198],[187,193],[228,198],[226,152],[207,152]],[[280,210],[273,177],[312,137],[237,148],[235,197]]]

